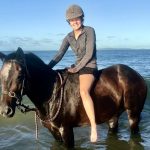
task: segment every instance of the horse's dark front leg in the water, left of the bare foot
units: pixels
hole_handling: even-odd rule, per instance
[[[73,148],[74,147],[74,133],[73,133],[73,127],[62,127],[62,139],[64,144],[68,147],[68,148]]]

